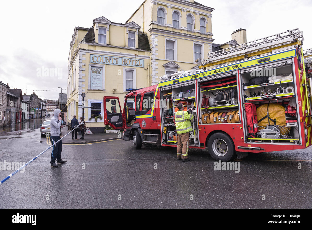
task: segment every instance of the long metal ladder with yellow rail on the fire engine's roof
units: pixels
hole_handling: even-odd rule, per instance
[[[299,28],[287,30],[252,42],[208,53],[208,58],[201,63],[199,68],[225,65],[261,54],[271,53],[273,50],[287,49],[292,45],[301,45],[302,41],[303,32]]]

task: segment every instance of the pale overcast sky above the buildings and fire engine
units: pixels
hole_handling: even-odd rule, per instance
[[[9,83],[10,88],[22,88],[23,93],[27,88],[27,95],[36,92],[41,98],[57,99],[60,90],[34,90],[62,87],[67,93],[67,58],[74,27],[89,28],[93,19],[101,16],[124,23],[142,2],[2,1],[0,81]],[[197,2],[215,8],[212,12],[215,43],[230,41],[231,33],[239,28],[247,30],[248,42],[299,27],[304,32],[303,48],[312,48],[311,0]],[[42,68],[57,68],[59,73],[45,77]]]

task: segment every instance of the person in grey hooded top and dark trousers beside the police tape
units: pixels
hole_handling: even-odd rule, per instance
[[[61,110],[55,109],[54,115],[50,122],[51,127],[51,133],[50,133],[50,139],[52,141],[52,144],[55,144],[57,141],[61,139],[60,137],[60,128],[62,127],[62,118],[61,116]],[[57,164],[63,164],[66,163],[66,161],[63,161],[61,158],[62,153],[62,141],[58,142],[56,145],[53,146],[52,153],[51,153],[51,167],[56,168],[58,167]],[[55,160],[57,160],[57,164],[55,163]]]

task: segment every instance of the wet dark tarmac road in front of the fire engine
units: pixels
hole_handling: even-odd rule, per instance
[[[0,162],[27,162],[48,147],[39,129],[13,133],[0,136]],[[250,154],[235,173],[214,170],[215,161],[203,150],[190,150],[192,161],[181,162],[175,158],[175,148],[133,150],[123,140],[64,145],[66,164],[51,168],[51,151],[44,153],[24,173],[0,186],[0,204],[5,208],[311,208],[311,150]],[[0,178],[12,171],[1,170]]]

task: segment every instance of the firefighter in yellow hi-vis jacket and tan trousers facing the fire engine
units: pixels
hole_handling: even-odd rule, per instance
[[[178,148],[177,148],[177,158],[182,161],[190,161],[188,158],[188,143],[189,143],[189,132],[193,131],[191,120],[194,119],[192,114],[192,109],[184,111],[182,103],[177,105],[179,111],[175,114],[174,121],[177,129],[177,139],[178,139]]]

